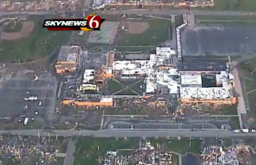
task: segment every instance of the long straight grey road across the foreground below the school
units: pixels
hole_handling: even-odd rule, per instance
[[[27,130],[0,130],[0,134],[23,135],[23,136],[48,136],[48,131],[27,129]],[[191,131],[191,130],[50,130],[50,136],[75,137],[255,137],[256,133],[233,133],[227,130]]]

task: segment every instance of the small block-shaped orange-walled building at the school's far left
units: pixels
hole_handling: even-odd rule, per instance
[[[62,46],[55,64],[56,73],[64,74],[76,71],[80,52],[79,46]]]

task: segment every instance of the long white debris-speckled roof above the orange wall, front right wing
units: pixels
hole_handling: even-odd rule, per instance
[[[181,99],[227,99],[231,97],[233,97],[233,94],[230,88],[180,88]]]

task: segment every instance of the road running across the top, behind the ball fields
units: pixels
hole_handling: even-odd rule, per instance
[[[91,10],[74,10],[74,11],[65,11],[59,10],[57,13],[91,13]],[[240,12],[240,11],[209,11],[209,10],[192,10],[193,15],[225,15],[225,16],[242,16],[244,14],[250,15],[251,12]],[[47,15],[53,14],[54,10],[48,11],[1,11],[1,15],[12,15],[12,14],[31,14],[31,15]],[[107,13],[102,13],[101,11],[96,12],[99,15],[113,15],[113,14],[152,14],[152,15],[181,15],[181,14],[190,14],[188,10],[148,10],[148,9],[130,9],[130,10],[112,10],[107,11]],[[252,13],[251,16],[256,16],[256,13]]]

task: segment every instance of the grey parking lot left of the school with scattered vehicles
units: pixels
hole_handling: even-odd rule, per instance
[[[0,88],[0,117],[17,120],[21,119],[21,116],[30,119],[33,117],[35,121],[41,122],[47,117],[51,120],[55,111],[57,80],[50,73],[44,73],[38,76],[37,81],[33,81],[26,76],[28,72],[30,71],[23,71],[3,82]],[[37,96],[38,99],[24,100],[29,96]]]

